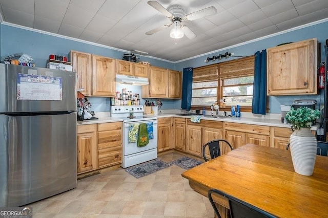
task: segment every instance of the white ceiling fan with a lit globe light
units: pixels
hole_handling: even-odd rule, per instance
[[[146,34],[152,35],[166,27],[171,27],[173,25],[173,28],[170,32],[170,36],[172,38],[182,38],[183,35],[186,35],[189,39],[195,38],[196,34],[191,29],[189,29],[189,27],[187,27],[184,24],[181,24],[181,22],[195,20],[216,13],[216,8],[213,6],[201,9],[199,11],[195,11],[190,14],[186,14],[185,9],[183,9],[183,7],[180,5],[172,5],[168,9],[164,8],[161,4],[159,4],[156,1],[149,1],[148,5],[155,8],[161,14],[167,16],[171,20],[171,23],[150,30],[146,32]]]

